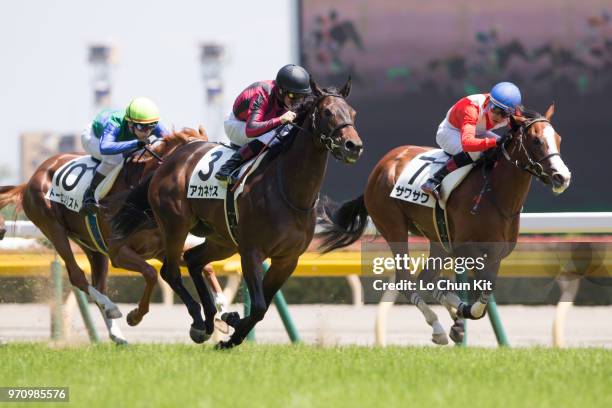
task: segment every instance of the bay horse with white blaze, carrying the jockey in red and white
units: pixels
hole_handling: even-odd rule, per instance
[[[433,291],[434,298],[448,309],[455,322],[450,331],[451,339],[461,342],[464,335],[462,319],[484,316],[488,297],[495,289],[500,262],[516,245],[519,216],[532,176],[551,186],[555,194],[562,193],[569,186],[571,173],[561,159],[561,137],[550,123],[553,113],[554,106],[551,105],[544,116],[527,110],[522,116],[511,116],[511,128],[500,146],[489,152],[488,161],[482,160],[481,166],[486,165],[483,170],[488,173],[470,172],[452,192],[446,203],[452,241],[450,254],[440,243],[431,208],[390,197],[402,170],[416,155],[432,149],[421,146],[401,146],[391,150],[370,173],[363,195],[345,202],[335,211],[329,206],[324,209],[323,231],[320,233],[323,241],[319,249],[328,252],[357,241],[366,228],[369,214],[394,256],[408,254],[408,232],[430,241],[430,258],[448,255],[482,257],[486,254],[484,267],[474,272],[478,279],[490,281],[491,287],[482,290],[475,303],[462,303],[452,291]],[[482,174],[488,174],[488,181]],[[433,268],[424,269],[418,279],[438,282],[439,273]],[[395,276],[396,282],[412,279],[409,271],[401,268],[396,269]],[[447,344],[448,338],[438,316],[418,291],[404,290],[402,293],[432,326],[432,341]]]

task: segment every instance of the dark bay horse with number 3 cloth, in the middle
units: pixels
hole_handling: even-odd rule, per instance
[[[241,256],[251,313],[231,324],[234,333],[228,341],[220,342],[218,348],[242,343],[255,324],[263,319],[274,294],[293,273],[299,256],[311,242],[316,225],[315,204],[325,176],[327,153],[352,164],[363,150],[355,129],[355,110],[345,100],[350,93],[350,78],[340,91],[321,89],[314,81],[311,87],[312,95],[296,110],[293,130],[284,137],[282,144],[271,149],[268,158],[246,180],[237,200],[240,213],[238,246],[226,227],[223,200],[187,198],[193,169],[216,144],[193,143],[177,149],[148,185],[148,203],[165,243],[166,258],[161,276],[187,306],[193,318],[191,331],[204,329],[209,336],[213,330],[214,307],[202,279],[202,266],[237,252]],[[274,152],[276,148],[278,154]],[[275,157],[271,159],[270,156]],[[132,199],[143,201],[137,196]],[[113,225],[127,235],[130,228],[123,222],[124,218],[120,211]],[[204,306],[205,322],[179,273],[182,245],[192,230],[206,234],[206,242],[184,254]],[[271,258],[271,266],[264,276],[262,262],[267,258]]]

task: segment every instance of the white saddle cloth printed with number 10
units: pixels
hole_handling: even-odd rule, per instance
[[[85,190],[91,184],[99,164],[100,161],[91,156],[70,160],[53,174],[51,188],[45,194],[45,198],[62,204],[69,210],[79,212],[83,205]],[[122,168],[123,164],[116,166],[98,185],[94,193],[97,201],[108,194]]]

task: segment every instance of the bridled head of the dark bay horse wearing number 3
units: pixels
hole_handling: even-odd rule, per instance
[[[304,116],[309,119],[308,132],[317,145],[337,160],[355,163],[363,152],[363,142],[355,129],[355,109],[346,101],[351,92],[351,79],[340,90],[320,88],[312,78],[310,86],[313,95],[302,105]]]

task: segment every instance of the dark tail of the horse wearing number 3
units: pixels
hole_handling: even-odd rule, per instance
[[[137,230],[157,227],[148,199],[149,186],[154,174],[149,174],[126,195],[117,197],[117,200],[123,204],[110,220],[113,239],[124,239]]]

